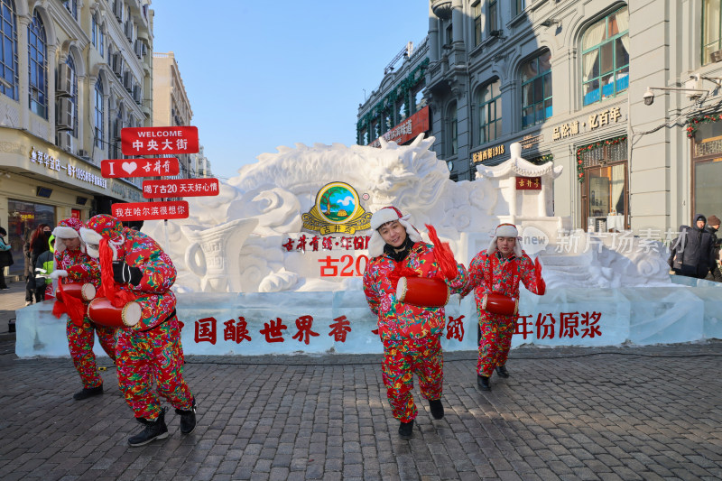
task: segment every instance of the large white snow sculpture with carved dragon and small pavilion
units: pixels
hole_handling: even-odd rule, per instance
[[[569,219],[550,217],[551,183],[562,167],[526,162],[521,146],[512,144],[509,161],[477,167],[475,181],[454,182],[445,163],[430,151],[433,142],[433,137],[420,136],[406,146],[382,139],[381,148],[340,143],[278,147],[278,153],[259,155],[258,162],[239,169],[237,177],[221,182],[218,196],[188,199],[189,218],[149,221],[143,231],[161,242],[165,239],[166,252],[178,269],[175,289],[180,292],[360,290],[357,275],[331,280],[311,275],[310,266],[318,265],[320,253],[282,249],[287,239],[302,234],[301,217],[314,206],[319,189],[330,182],[344,182],[364,199],[366,211],[393,204],[411,214],[416,227],[433,225],[466,263],[486,248],[488,234],[499,222],[513,222],[523,236],[543,238],[542,245],[529,245],[528,250],[539,252],[542,262],[553,256],[547,273],[554,278],[551,271],[555,265],[563,266],[568,254],[555,253],[554,247]],[[517,176],[540,177],[542,190],[515,190]],[[575,257],[575,262],[591,276],[589,286],[625,285],[626,274],[613,267],[621,262],[618,257],[616,253],[583,255]],[[644,268],[642,274],[648,277],[637,275],[634,282],[663,282],[664,269],[651,277],[647,272],[659,265],[657,261]],[[640,263],[649,261],[632,259],[625,269]],[[563,268],[559,274],[550,286],[574,282]]]

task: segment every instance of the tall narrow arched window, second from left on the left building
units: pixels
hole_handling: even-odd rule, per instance
[[[30,109],[48,118],[48,60],[45,27],[38,11],[28,24],[28,63],[30,70]]]

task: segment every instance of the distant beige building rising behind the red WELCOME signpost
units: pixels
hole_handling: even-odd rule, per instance
[[[193,110],[172,51],[153,53],[153,126],[190,125]],[[180,163],[179,179],[196,177],[189,154],[174,155]]]

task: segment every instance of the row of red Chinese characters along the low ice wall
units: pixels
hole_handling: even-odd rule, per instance
[[[516,330],[514,334],[522,335],[523,339],[534,337],[538,340],[553,338],[596,338],[602,335],[600,321],[602,319],[601,312],[560,312],[559,315],[547,313],[539,313],[533,320],[532,314],[528,316],[517,316]],[[464,340],[464,318],[465,316],[448,316],[449,321],[446,324],[447,339],[455,339],[458,342]],[[235,342],[251,342],[254,338],[266,343],[279,343],[295,341],[306,346],[310,345],[313,338],[319,338],[327,335],[336,342],[346,342],[347,334],[351,332],[351,321],[346,316],[339,316],[328,324],[328,329],[323,329],[324,324],[320,323],[321,328],[317,324],[314,329],[313,319],[310,315],[302,315],[288,325],[281,318],[269,319],[263,322],[263,328],[256,332],[248,329],[248,322],[244,317],[236,319],[228,319],[227,321],[218,322],[216,318],[203,318],[195,321],[193,339],[196,344],[208,342],[216,345],[218,339],[224,341]],[[289,327],[295,326],[293,327]],[[375,335],[378,330],[371,331]]]

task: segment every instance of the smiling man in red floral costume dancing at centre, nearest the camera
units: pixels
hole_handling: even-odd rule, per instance
[[[396,291],[401,277],[440,280],[448,298],[467,281],[466,269],[453,260],[448,245],[421,242],[421,235],[397,208],[382,208],[371,217],[374,229],[368,245],[364,292],[378,317],[378,333],[384,343],[383,377],[393,417],[401,421],[399,435],[410,439],[417,409],[413,402],[413,374],[419,375],[421,395],[429,400],[431,415],[444,417],[441,404],[443,356],[441,334],[446,324],[443,305],[424,307],[402,302]],[[433,227],[430,227],[430,235]],[[439,249],[447,254],[441,262]],[[405,279],[404,279],[405,281]],[[446,301],[443,301],[446,303]]]

